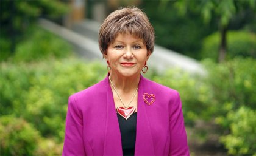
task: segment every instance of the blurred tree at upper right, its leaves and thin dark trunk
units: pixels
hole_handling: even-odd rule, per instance
[[[227,44],[227,30],[230,29],[230,22],[232,22],[232,19],[238,21],[239,18],[236,17],[241,16],[241,14],[246,14],[248,10],[251,10],[255,15],[256,2],[251,0],[180,0],[175,2],[175,5],[183,15],[185,15],[188,10],[201,15],[205,24],[208,24],[215,18],[216,24],[218,24],[219,27],[220,36],[219,49],[216,53],[218,53],[218,61],[222,62],[226,59],[227,46],[229,46]],[[244,18],[247,17],[244,16]]]

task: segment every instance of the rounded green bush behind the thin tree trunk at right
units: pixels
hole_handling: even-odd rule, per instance
[[[202,58],[218,60],[219,32],[213,33],[204,39],[202,46]],[[256,58],[256,35],[245,31],[227,32],[227,58],[235,56]]]

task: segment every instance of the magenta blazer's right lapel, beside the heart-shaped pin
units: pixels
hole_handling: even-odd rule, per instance
[[[138,87],[138,106],[137,106],[137,129],[135,155],[154,155],[154,144],[152,141],[149,118],[146,111],[146,103],[143,100],[143,94],[147,93],[145,88],[145,79],[140,77]]]

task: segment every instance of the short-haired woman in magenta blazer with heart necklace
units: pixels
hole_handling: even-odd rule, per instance
[[[154,50],[147,16],[111,13],[99,47],[108,75],[69,97],[63,155],[189,155],[179,93],[141,76]]]

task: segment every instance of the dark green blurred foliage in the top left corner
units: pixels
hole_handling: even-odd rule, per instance
[[[59,20],[60,16],[69,11],[68,5],[59,0],[40,1],[1,1],[0,5],[0,51],[1,58],[7,58],[16,52],[16,44],[23,41],[31,25],[39,17]]]

